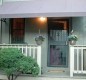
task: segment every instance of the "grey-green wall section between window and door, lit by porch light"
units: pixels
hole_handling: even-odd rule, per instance
[[[47,36],[47,21],[40,22],[38,18],[26,18],[25,22],[25,42],[28,44],[36,44],[35,37],[40,34],[44,36],[45,40],[42,46],[42,69],[46,71],[47,67],[47,48],[48,48],[48,36]]]

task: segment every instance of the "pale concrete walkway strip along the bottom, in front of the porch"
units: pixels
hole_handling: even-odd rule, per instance
[[[0,75],[0,80],[7,80],[5,75]],[[16,80],[86,80],[86,78],[55,78],[55,77],[29,77],[19,76]]]

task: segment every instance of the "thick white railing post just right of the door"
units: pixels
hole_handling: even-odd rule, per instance
[[[70,53],[70,77],[73,77],[74,71],[74,47],[69,46],[69,53]]]

